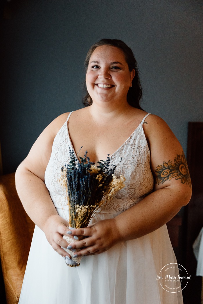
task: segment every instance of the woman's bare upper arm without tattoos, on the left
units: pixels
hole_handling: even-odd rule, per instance
[[[44,129],[25,160],[19,165],[19,168],[32,172],[44,181],[44,174],[51,157],[54,138],[65,123],[67,116],[68,113],[58,116]]]

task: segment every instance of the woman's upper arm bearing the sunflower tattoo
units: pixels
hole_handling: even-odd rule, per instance
[[[144,128],[150,149],[154,190],[173,188],[183,194],[184,205],[191,197],[191,179],[183,148],[163,119],[149,115],[147,121]]]

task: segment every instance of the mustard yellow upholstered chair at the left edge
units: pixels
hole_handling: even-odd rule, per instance
[[[0,176],[0,257],[7,304],[19,301],[33,230],[16,192],[15,173]]]

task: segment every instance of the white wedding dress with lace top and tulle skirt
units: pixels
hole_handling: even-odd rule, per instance
[[[112,164],[117,165],[115,174],[126,178],[125,188],[91,223],[114,218],[152,192],[145,117],[111,156]],[[61,167],[69,160],[69,147],[73,149],[68,119],[54,139],[45,172],[51,199],[65,219],[67,202],[58,180]],[[176,262],[166,225],[138,239],[120,242],[102,254],[83,257],[80,266],[74,268],[66,265],[36,226],[19,304],[182,304],[181,292],[167,292],[156,279],[165,265]],[[171,275],[178,272],[172,270]]]

